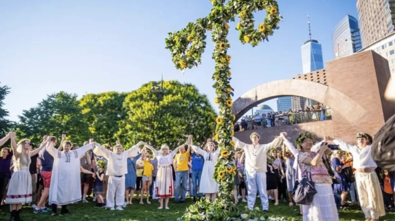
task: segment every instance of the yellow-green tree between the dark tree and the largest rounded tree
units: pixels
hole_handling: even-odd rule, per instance
[[[119,121],[126,116],[122,103],[127,93],[104,92],[87,94],[79,100],[89,133],[99,143],[115,144]]]

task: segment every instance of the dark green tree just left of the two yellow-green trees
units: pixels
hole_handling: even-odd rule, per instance
[[[51,94],[37,107],[25,110],[18,116],[17,135],[38,144],[44,135],[59,139],[62,133],[66,133],[67,139],[82,146],[90,134],[81,110],[76,94]]]

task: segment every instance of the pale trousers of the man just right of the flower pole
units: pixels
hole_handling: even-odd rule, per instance
[[[261,197],[262,210],[269,210],[269,200],[266,193],[266,173],[265,172],[246,172],[247,176],[247,204],[248,209],[253,210],[256,200],[256,193],[259,191]]]

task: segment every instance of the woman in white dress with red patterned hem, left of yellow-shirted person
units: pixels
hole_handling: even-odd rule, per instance
[[[178,150],[188,143],[182,144],[181,146],[175,148],[173,151],[169,151],[169,146],[166,144],[162,145],[160,151],[156,151],[152,146],[144,143],[145,146],[150,149],[156,159],[158,159],[158,172],[156,174],[155,180],[155,197],[159,198],[158,207],[159,210],[163,209],[163,199],[165,199],[165,209],[169,210],[169,197],[173,197],[173,171],[171,169],[171,164],[174,161],[174,157]]]

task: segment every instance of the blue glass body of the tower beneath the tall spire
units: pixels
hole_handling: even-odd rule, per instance
[[[308,40],[302,47],[303,73],[309,73],[324,68],[322,59],[322,47],[317,40]]]

